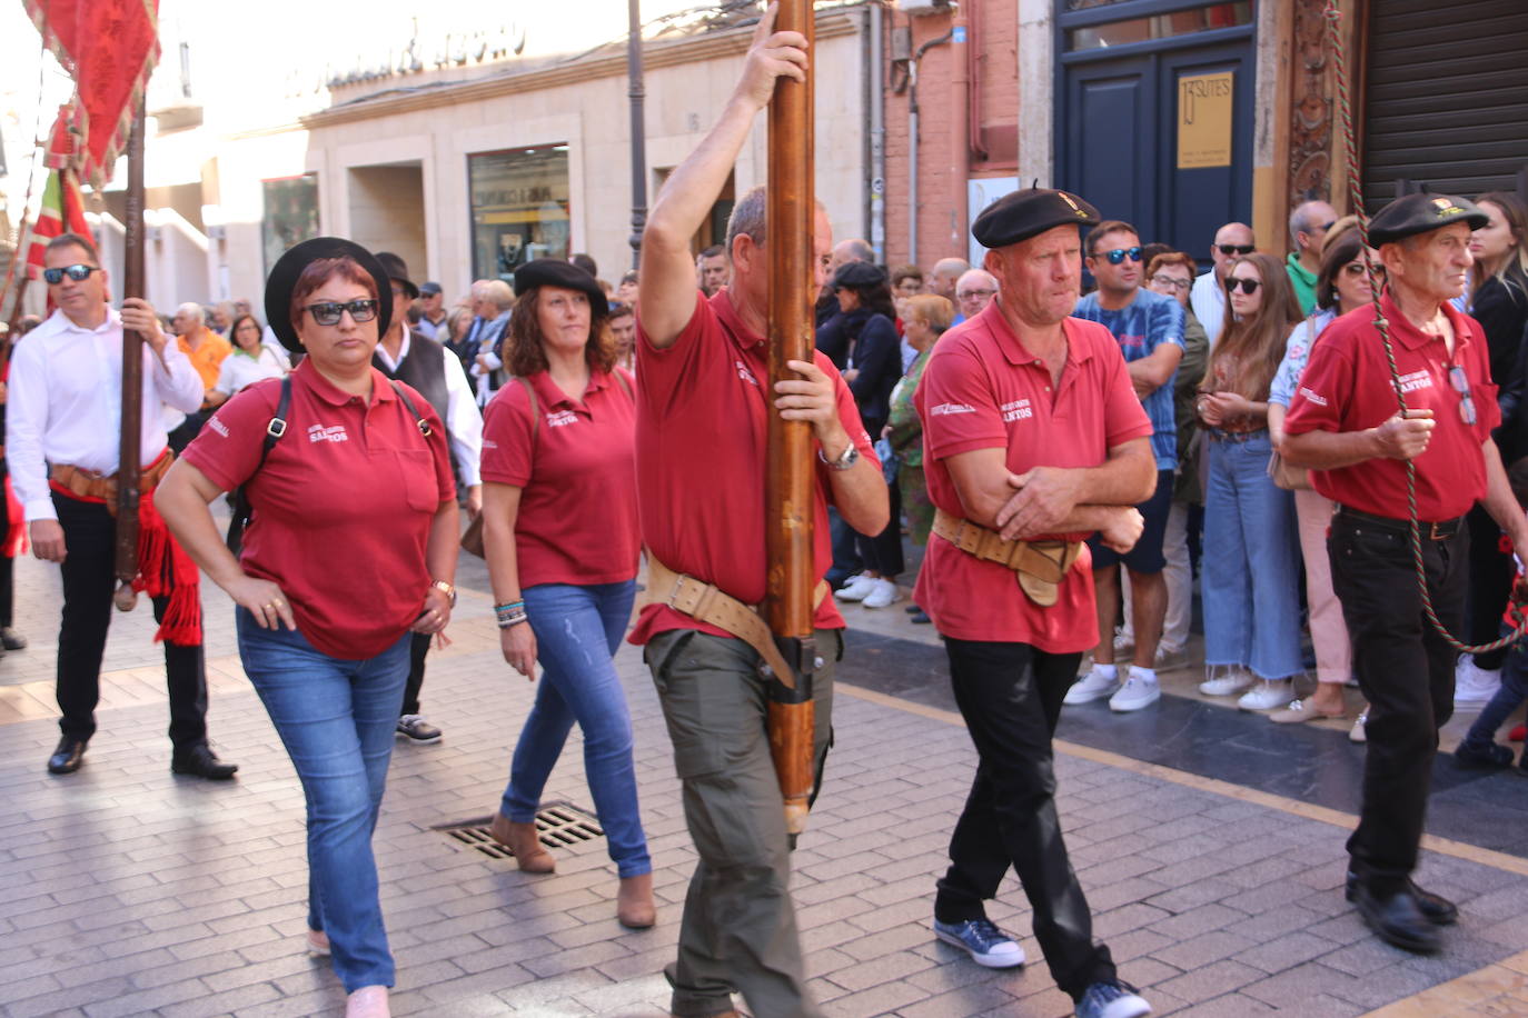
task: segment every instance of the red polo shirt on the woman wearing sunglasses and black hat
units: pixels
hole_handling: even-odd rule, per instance
[[[457,496],[446,429],[425,397],[408,395],[428,440],[376,368],[367,404],[304,360],[292,372],[287,430],[258,472],[278,379],[219,408],[185,450],[225,491],[249,482],[244,572],[280,583],[298,632],[333,658],[374,658],[419,618],[429,523]]]

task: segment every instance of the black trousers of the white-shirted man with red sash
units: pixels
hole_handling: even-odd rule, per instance
[[[58,627],[58,726],[73,739],[95,734],[101,699],[101,656],[112,624],[116,589],[116,520],[105,505],[53,493],[64,528],[64,618]],[[154,598],[154,620],[163,620],[170,598]],[[206,742],[206,662],[202,647],[165,641],[170,687],[170,742],[189,749]]]

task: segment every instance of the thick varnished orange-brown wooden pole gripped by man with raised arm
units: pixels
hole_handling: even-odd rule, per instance
[[[801,32],[811,55],[811,0],[779,0],[778,32]],[[769,107],[769,206],[764,249],[769,256],[769,392],[799,375],[788,360],[811,360],[813,304],[813,116],[807,81],[779,78]],[[773,676],[769,736],[785,800],[785,827],[801,833],[814,780],[811,675],[813,639],[813,485],[811,424],[785,421],[770,403],[769,478],[764,488],[769,577],[766,614],[795,675]]]

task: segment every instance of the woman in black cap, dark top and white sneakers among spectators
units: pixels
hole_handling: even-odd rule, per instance
[[[848,261],[839,266],[828,285],[837,296],[842,330],[851,342],[843,380],[859,404],[865,430],[879,437],[891,417],[891,391],[902,379],[902,337],[897,336],[897,310],[886,270],[866,261]],[[865,571],[834,594],[840,601],[886,607],[897,600],[897,574],[903,566],[902,507],[897,485],[889,485],[889,493],[891,522],[880,534],[860,534],[854,542]]]

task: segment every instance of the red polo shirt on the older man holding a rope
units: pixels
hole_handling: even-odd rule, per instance
[[[1453,325],[1453,357],[1441,334],[1423,333],[1395,307],[1386,293],[1380,299],[1390,322],[1390,346],[1401,375],[1406,406],[1429,408],[1436,421],[1427,450],[1416,456],[1416,516],[1424,522],[1456,519],[1485,496],[1485,456],[1481,446],[1502,423],[1491,385],[1490,353],[1479,322],[1444,302]],[[1464,368],[1475,403],[1475,424],[1465,424],[1462,397],[1449,380],[1449,369]],[[1395,415],[1395,383],[1384,343],[1374,327],[1374,308],[1348,311],[1326,327],[1311,348],[1311,360],[1290,401],[1284,429],[1305,432],[1358,432],[1377,427]],[[1406,461],[1366,459],[1340,470],[1314,470],[1316,490],[1361,513],[1406,519]]]

